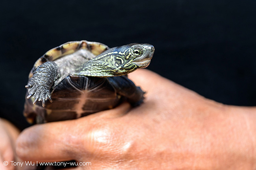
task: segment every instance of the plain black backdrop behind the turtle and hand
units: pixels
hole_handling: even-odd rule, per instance
[[[148,69],[206,98],[256,105],[255,0],[2,0],[0,17],[0,116],[19,128],[33,63],[73,40],[150,43]]]

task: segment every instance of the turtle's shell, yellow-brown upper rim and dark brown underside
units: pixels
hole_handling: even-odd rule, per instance
[[[60,45],[46,52],[35,62],[29,74],[29,81],[37,66],[46,61],[58,60],[80,49],[86,49],[96,56],[106,51],[108,46],[85,40]],[[51,97],[52,103],[47,100],[45,107],[42,107],[41,101],[33,105],[33,98],[25,99],[24,116],[29,123],[76,119],[101,110],[111,109],[122,101],[122,96],[115,92],[108,78],[72,75],[65,77],[52,89]]]

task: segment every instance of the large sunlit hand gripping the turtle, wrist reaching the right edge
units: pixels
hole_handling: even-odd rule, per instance
[[[256,108],[206,99],[154,72],[131,73],[145,103],[35,125],[17,140],[30,161],[91,162],[74,169],[255,169]]]

